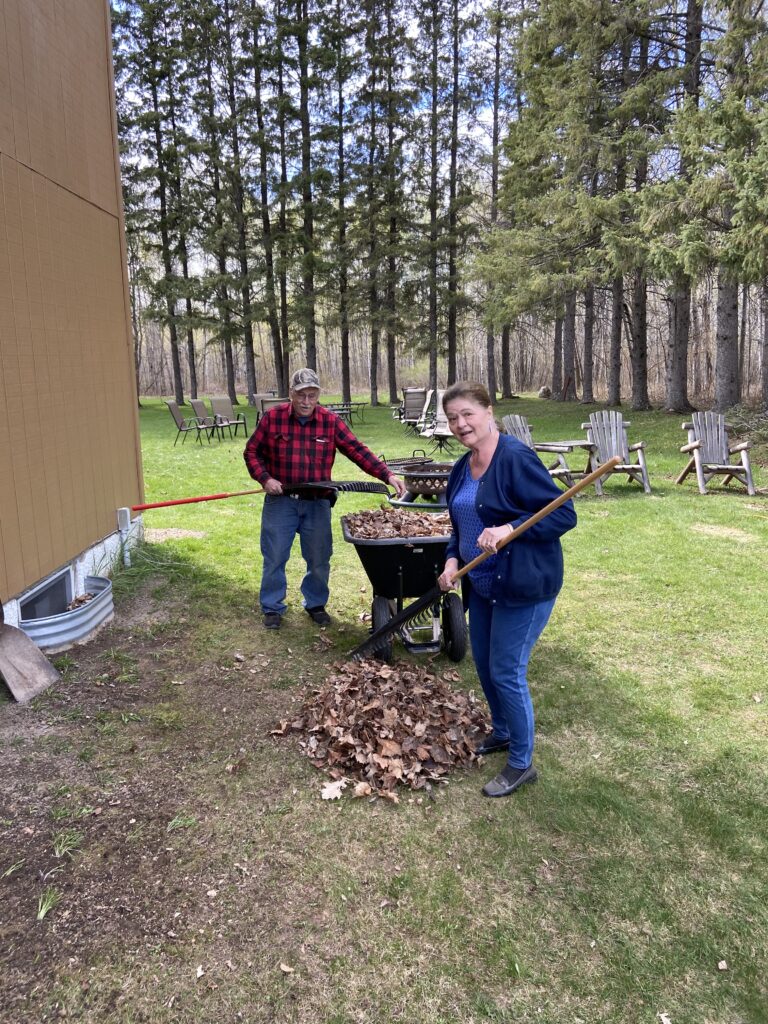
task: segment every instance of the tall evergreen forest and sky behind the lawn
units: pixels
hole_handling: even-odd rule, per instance
[[[762,0],[114,0],[139,393],[768,407]]]

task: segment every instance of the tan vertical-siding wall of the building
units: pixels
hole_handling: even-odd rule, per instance
[[[0,0],[0,599],[142,498],[106,0]]]

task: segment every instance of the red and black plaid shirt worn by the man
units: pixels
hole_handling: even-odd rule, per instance
[[[324,406],[299,422],[290,401],[268,410],[248,439],[244,458],[259,483],[270,476],[281,483],[330,480],[336,451],[371,476],[386,480],[391,470],[359,441],[346,423]]]

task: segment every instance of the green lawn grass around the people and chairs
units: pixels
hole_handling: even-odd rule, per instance
[[[147,501],[248,486],[240,440],[173,447],[165,407],[142,404]],[[580,436],[590,410],[525,397],[499,415],[511,411],[529,418],[535,438],[555,440]],[[338,523],[374,496],[342,495],[334,512],[325,646],[299,607],[298,551],[284,629],[260,629],[260,497],[144,514],[146,527],[203,536],[148,544],[119,571],[118,617],[141,588],[174,606],[186,654],[210,671],[210,701],[184,703],[183,687],[172,691],[166,678],[158,699],[176,701],[173,729],[156,721],[151,730],[157,709],[113,727],[146,730],[148,771],[174,737],[189,742],[200,729],[177,819],[186,824],[166,838],[180,858],[179,893],[201,864],[214,880],[248,864],[252,884],[229,889],[217,914],[201,910],[194,934],[155,951],[113,950],[99,972],[123,979],[127,1001],[111,1007],[92,980],[102,1016],[83,1019],[768,1020],[768,506],[735,487],[701,497],[692,477],[675,485],[682,417],[626,415],[631,441],[646,442],[653,493],[614,476],[604,498],[578,499],[579,525],[563,539],[565,585],[529,672],[541,778],[508,800],[480,796],[502,763],[490,759],[435,801],[328,804],[297,749],[264,738],[269,721],[366,635],[371,588]],[[369,410],[356,430],[389,458],[415,446],[386,408]],[[360,474],[340,457],[335,475]],[[264,669],[245,680],[254,719],[237,733],[250,774],[224,793],[233,733],[221,706],[245,683],[222,682],[215,667],[233,650]],[[471,658],[459,671],[461,685],[477,686]],[[269,712],[259,719],[262,703]],[[206,722],[221,723],[220,738]],[[113,761],[123,770],[119,755]],[[199,964],[207,987],[195,980]],[[58,995],[67,1005],[63,981]]]

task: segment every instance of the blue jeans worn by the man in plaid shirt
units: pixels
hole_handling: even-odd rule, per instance
[[[333,536],[331,503],[326,498],[309,502],[286,495],[266,495],[261,513],[261,590],[259,600],[264,614],[286,611],[286,564],[293,539],[299,535],[306,574],[301,581],[305,608],[328,602]]]

